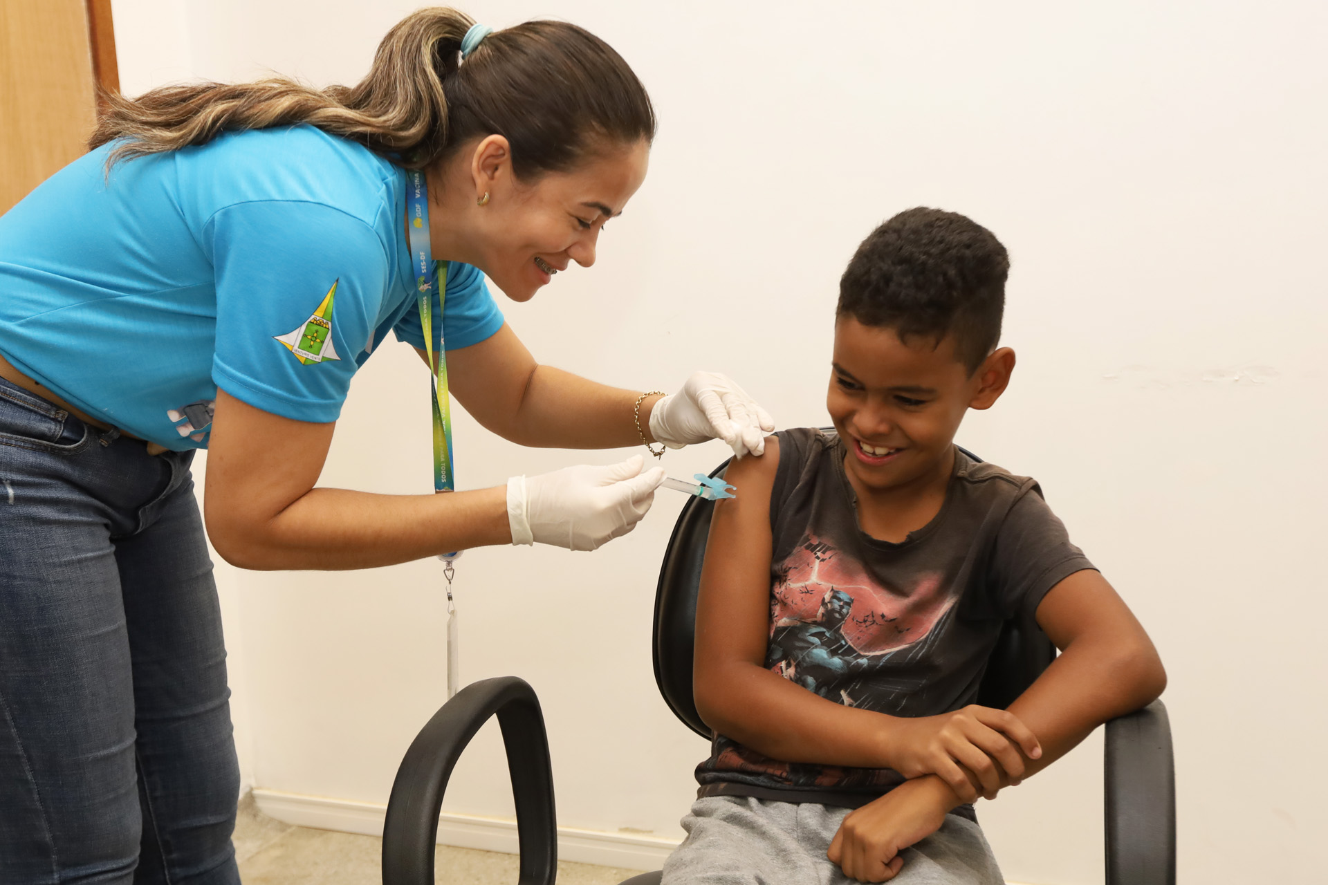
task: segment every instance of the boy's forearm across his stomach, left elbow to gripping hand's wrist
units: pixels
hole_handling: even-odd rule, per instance
[[[764,667],[697,671],[695,694],[708,726],[772,759],[888,767],[894,716],[827,701]]]

